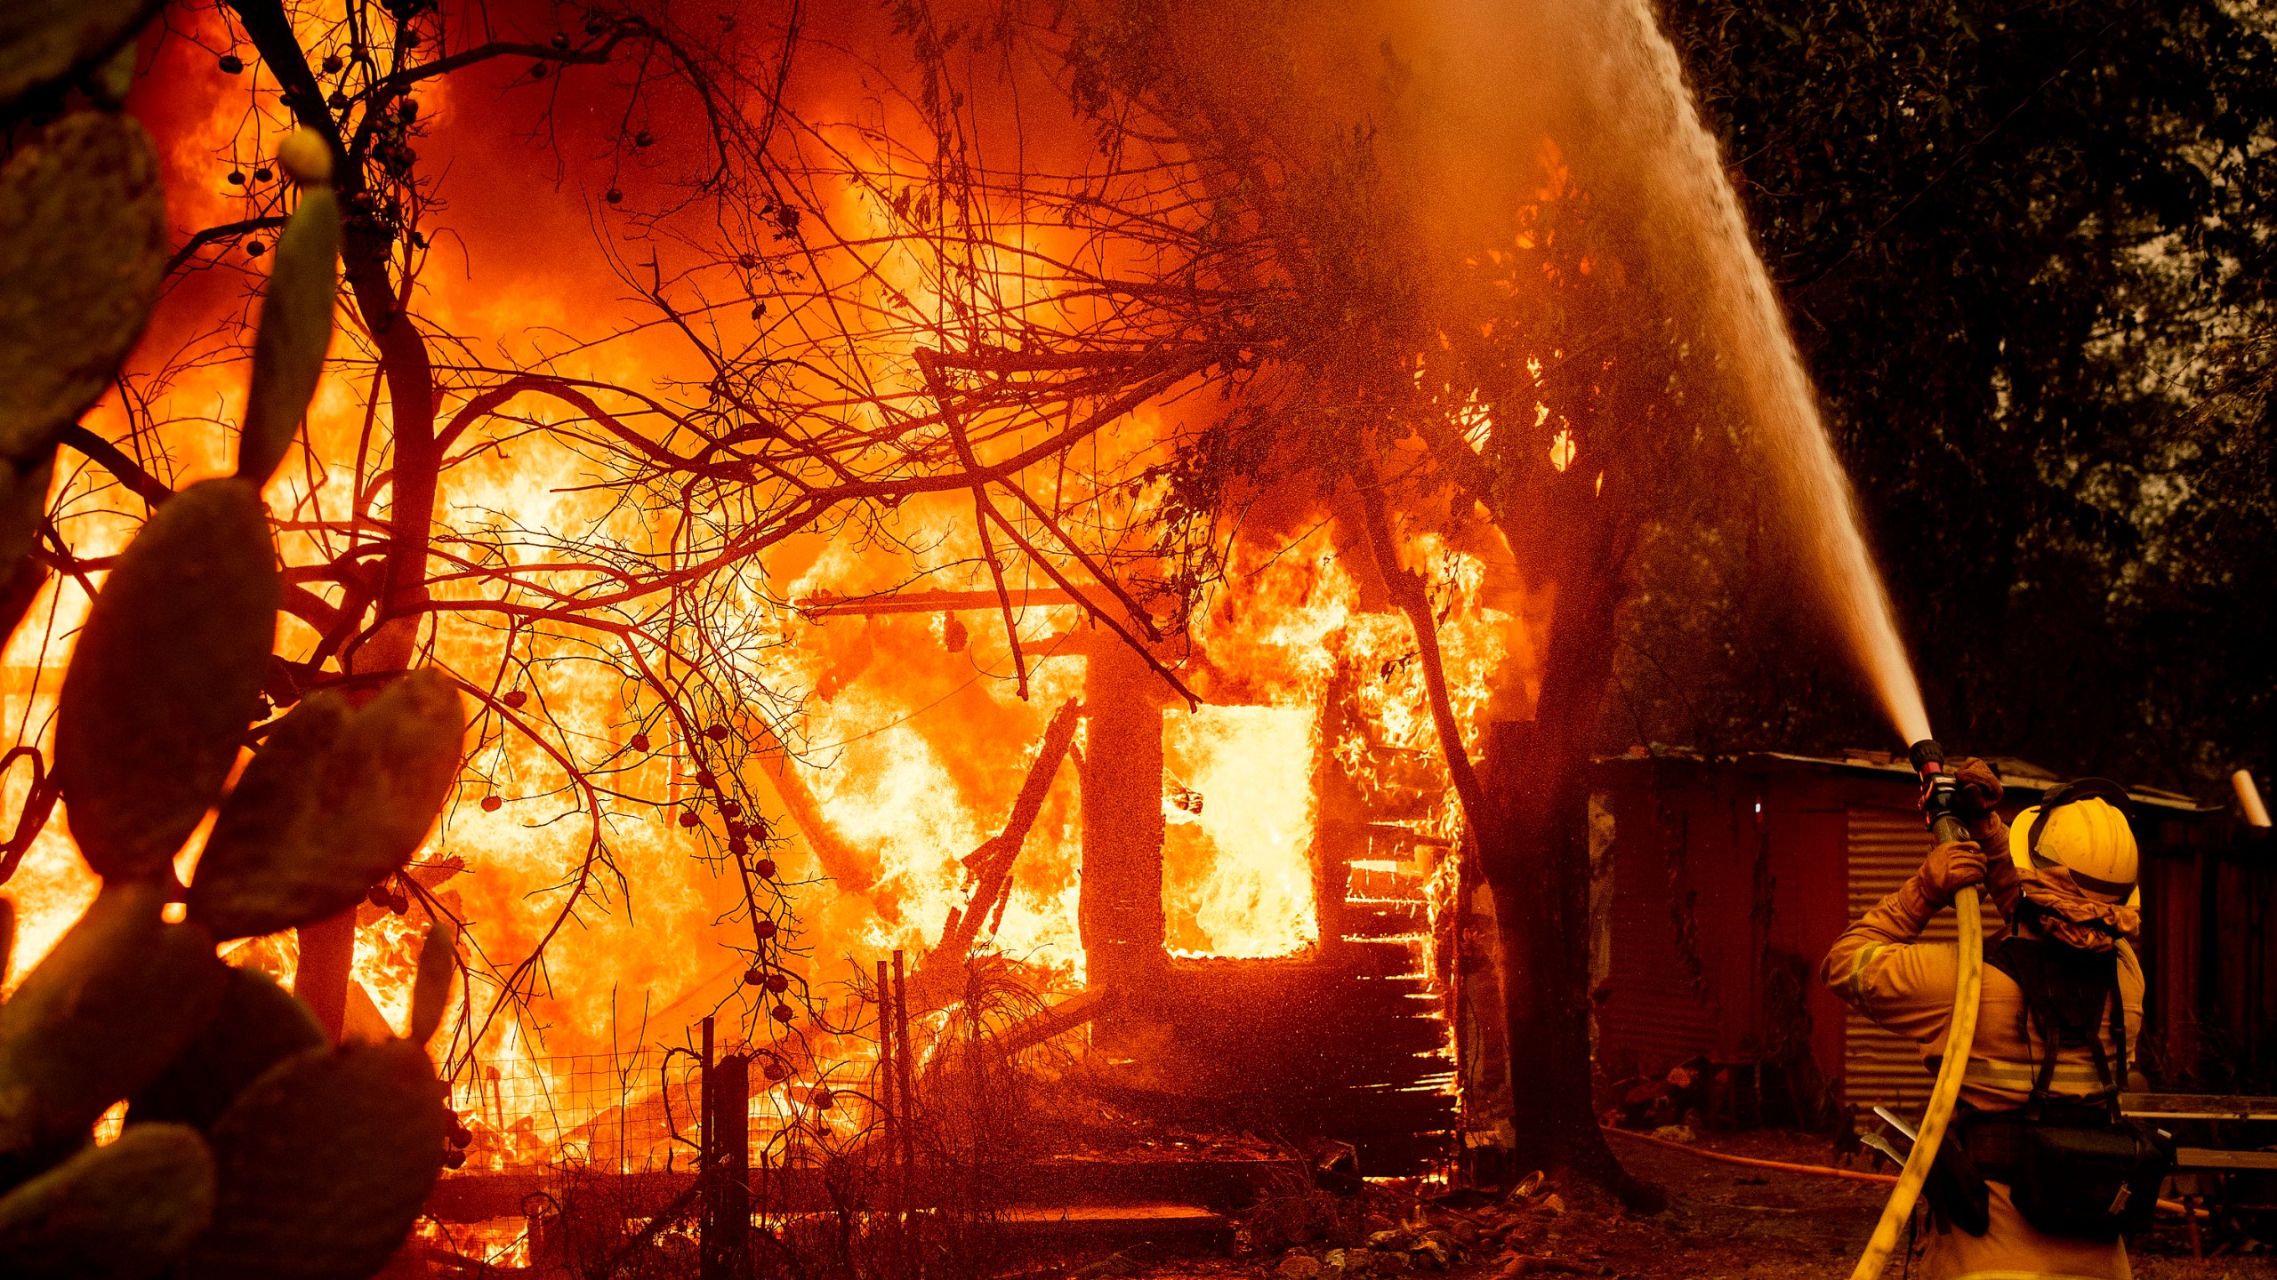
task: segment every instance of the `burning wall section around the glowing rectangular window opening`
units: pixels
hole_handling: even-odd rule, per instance
[[[1446,970],[1432,945],[1450,806],[1430,777],[1437,754],[1403,742],[1382,715],[1398,704],[1387,686],[1409,672],[1398,649],[1366,645],[1405,624],[1353,610],[1332,556],[1309,569],[1334,590],[1296,597],[1334,606],[1334,640],[1307,642],[1325,660],[1305,681],[1230,679],[1207,642],[1141,654],[1084,624],[1041,635],[1050,660],[1034,667],[1038,683],[1061,658],[1082,658],[1079,686],[1066,670],[1036,699],[1082,708],[1075,786],[1066,772],[1052,786],[1075,820],[1047,822],[1020,856],[1045,879],[1061,859],[1072,872],[1070,959],[1088,991],[1111,998],[1091,1045],[1125,1098],[1166,1111],[1234,1102],[1264,1123],[1353,1141],[1371,1173],[1419,1171],[1453,1127]],[[934,635],[959,635],[970,624],[952,626],[954,613],[997,599],[808,604],[817,617],[918,608],[945,613]],[[1161,667],[1202,699],[1189,706]],[[1002,904],[965,906],[977,909]]]

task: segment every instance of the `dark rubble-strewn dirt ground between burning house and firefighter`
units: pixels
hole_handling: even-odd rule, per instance
[[[1134,1275],[1143,1280],[1343,1280],[1409,1275],[1428,1280],[1437,1250],[1448,1250],[1450,1280],[1535,1273],[1626,1275],[1633,1280],[1822,1280],[1844,1278],[1881,1214],[1888,1187],[1801,1173],[1744,1168],[1701,1159],[1687,1150],[1612,1139],[1630,1173],[1669,1191],[1669,1209],[1630,1216],[1594,1196],[1544,1187],[1516,1203],[1478,1205],[1469,1216],[1375,1196],[1362,1221],[1346,1221],[1325,1239],[1289,1244],[1268,1223],[1243,1228],[1236,1255],[1134,1260],[1109,1257],[1070,1266],[1079,1280]],[[1794,1134],[1708,1134],[1705,1150],[1824,1164],[1826,1141]],[[1387,1234],[1389,1228],[1389,1234]],[[1305,1234],[1305,1232],[1296,1232]],[[1343,1244],[1343,1248],[1337,1248]],[[1382,1248],[1366,1248],[1380,1244]],[[2209,1239],[2213,1248],[2218,1241]],[[2243,1250],[2241,1253],[2241,1244]],[[1532,1262],[1532,1260],[1551,1260]],[[2272,1255],[2252,1241],[2231,1241],[2204,1262],[2190,1257],[2179,1225],[2138,1241],[2134,1271],[2143,1280],[2277,1280]],[[1906,1275],[1904,1257],[1888,1278]]]

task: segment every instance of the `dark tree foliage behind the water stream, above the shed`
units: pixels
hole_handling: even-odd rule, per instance
[[[2277,765],[2277,48],[2218,2],[1674,0],[1931,717],[2213,793]],[[1767,512],[1639,560],[1617,742],[1890,745]],[[1712,604],[1701,613],[1699,601]]]

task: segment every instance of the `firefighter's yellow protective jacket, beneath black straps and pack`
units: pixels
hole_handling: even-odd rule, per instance
[[[1835,995],[1885,1032],[1920,1043],[1931,1073],[1945,1057],[1960,968],[1960,957],[1949,943],[1920,941],[1922,925],[1933,913],[1920,884],[1906,881],[1835,938],[1819,968],[1819,977]],[[2143,963],[2127,943],[2120,943],[2120,1002],[2127,1048],[2134,1050],[2143,1032]],[[2104,1055],[2113,1059],[2109,1007],[2102,1027]],[[2031,1096],[2031,1064],[2047,1057],[2047,1041],[2027,1036],[2031,1029],[2024,1018],[2024,991],[2006,973],[1986,966],[1976,1043],[1970,1048],[1960,1100],[1983,1111],[2022,1107]],[[2134,1052],[2127,1061],[2134,1061]],[[2056,1077],[2049,1089],[2068,1096],[2097,1091],[2095,1057],[2086,1045],[2056,1055]],[[2124,1244],[2042,1234],[2017,1214],[2008,1200],[2008,1184],[1992,1182],[1990,1189],[1992,1225],[1986,1234],[1929,1230],[1917,1264],[1920,1275],[1926,1280],[2127,1280],[2131,1275]]]

